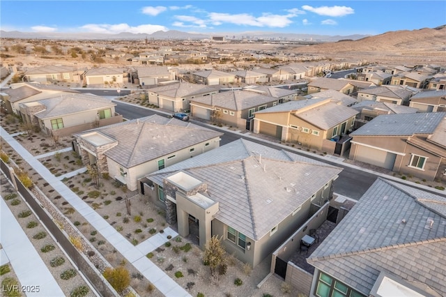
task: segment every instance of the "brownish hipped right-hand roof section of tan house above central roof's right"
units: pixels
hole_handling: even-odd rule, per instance
[[[339,123],[353,118],[358,113],[351,107],[330,101],[294,115],[318,128],[328,130],[335,125],[339,125]]]

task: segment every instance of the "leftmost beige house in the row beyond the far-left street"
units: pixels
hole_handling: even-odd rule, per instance
[[[40,82],[41,84],[52,84],[54,82],[79,83],[80,75],[76,66],[47,65],[26,70],[23,79],[25,82]]]

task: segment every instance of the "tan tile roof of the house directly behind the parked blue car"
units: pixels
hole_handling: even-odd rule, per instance
[[[189,82],[178,82],[172,84],[166,84],[165,86],[157,86],[155,88],[148,89],[153,93],[157,93],[171,98],[183,98],[186,96],[193,96],[196,94],[205,94],[217,92],[213,86],[206,86],[203,84],[191,84]]]

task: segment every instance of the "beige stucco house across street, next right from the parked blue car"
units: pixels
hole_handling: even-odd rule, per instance
[[[278,98],[254,91],[226,91],[190,99],[191,115],[245,129],[254,112],[277,105]]]

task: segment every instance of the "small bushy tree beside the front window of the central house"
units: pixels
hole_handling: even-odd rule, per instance
[[[203,262],[210,268],[210,275],[214,278],[226,273],[226,252],[222,247],[221,238],[212,236],[206,243],[203,254]]]

